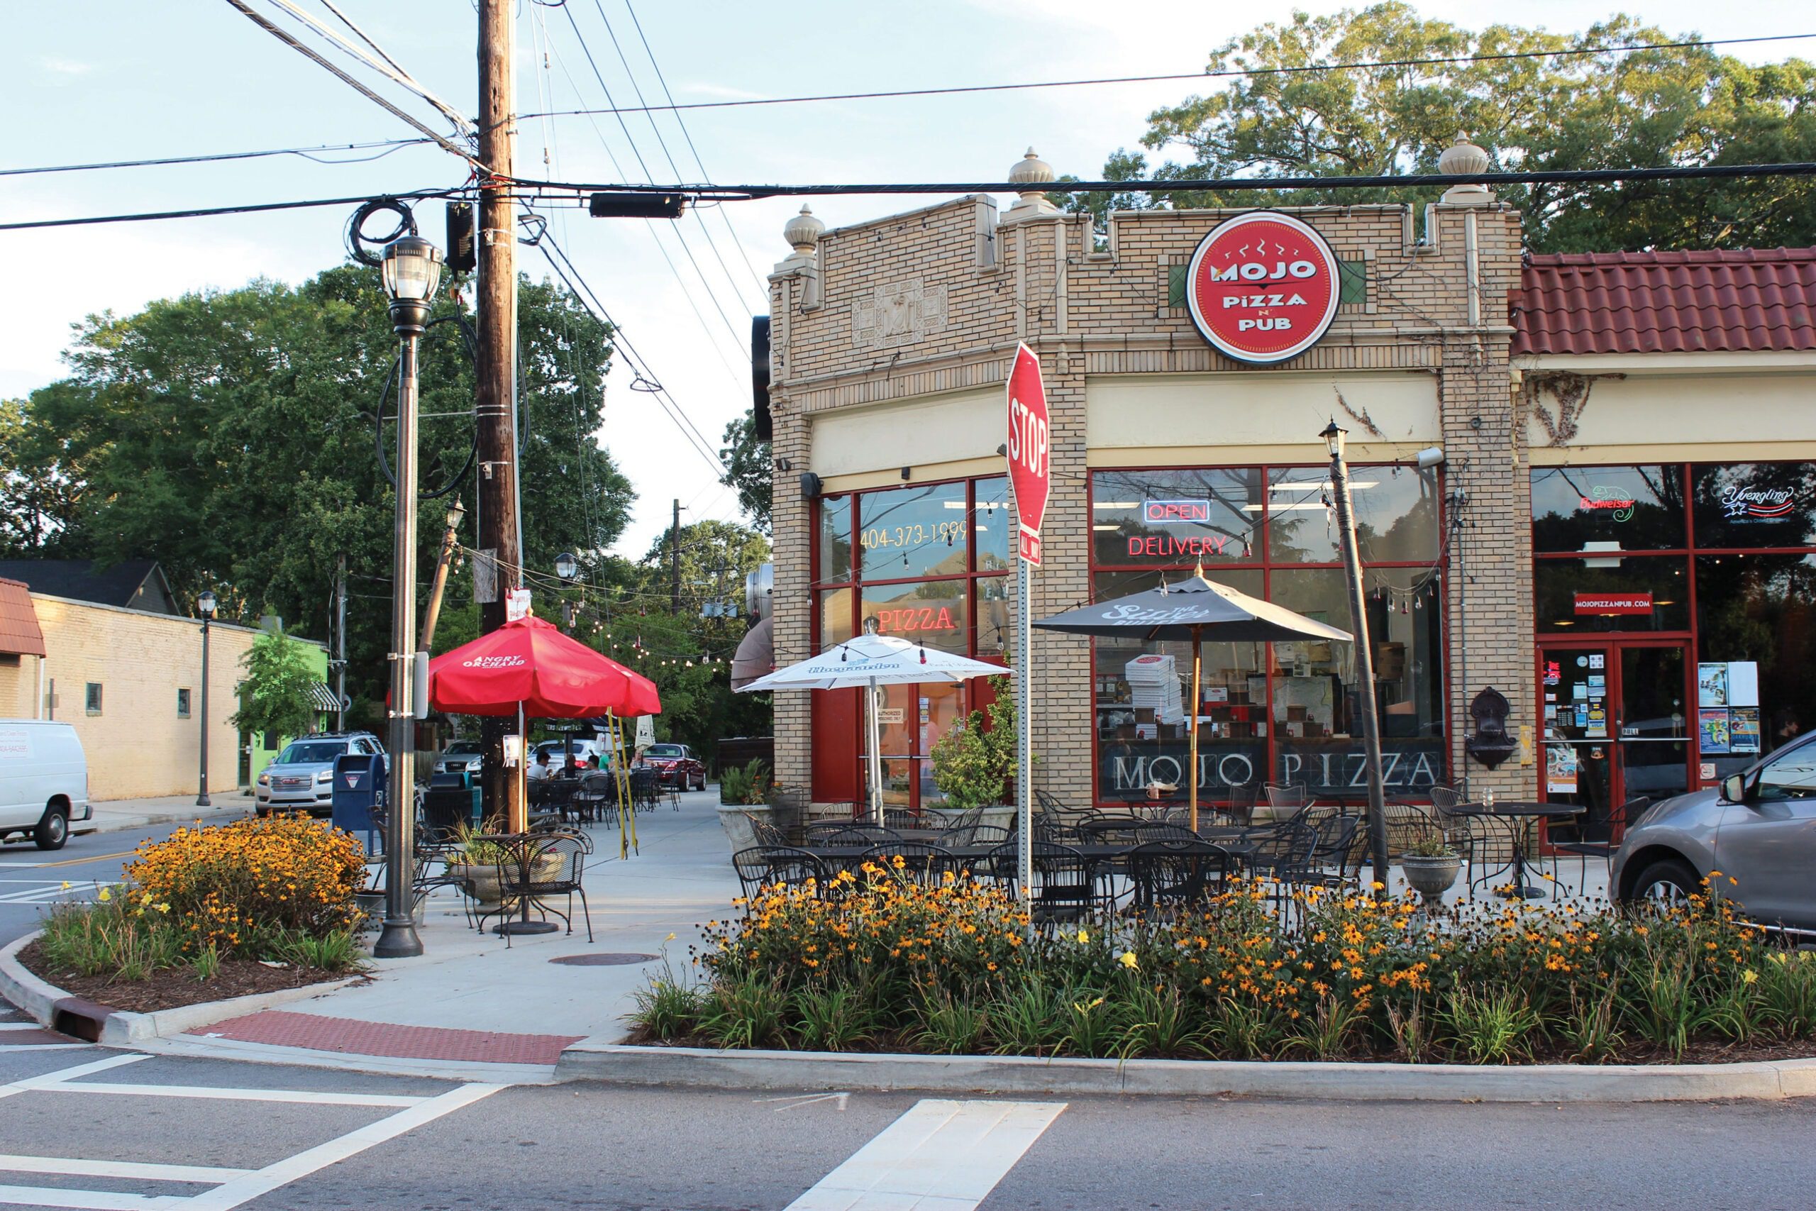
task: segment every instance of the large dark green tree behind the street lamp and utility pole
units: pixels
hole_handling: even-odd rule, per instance
[[[443,298],[436,318],[452,316]],[[525,565],[603,550],[628,521],[628,481],[592,434],[610,330],[567,290],[519,285]],[[396,358],[378,271],[343,265],[300,287],[254,281],[91,316],[71,376],[0,409],[0,543],[104,563],[156,557],[180,597],[209,586],[222,617],[274,612],[327,634],[336,556],[354,576],[349,692],[383,697],[394,492],[376,428]],[[421,488],[459,479],[472,508],[472,363],[456,323],[421,350]],[[396,392],[385,403],[396,412]],[[380,438],[380,432],[383,434]],[[423,501],[419,568],[452,496]],[[469,525],[463,541],[472,543]],[[465,594],[450,581],[454,606]],[[478,614],[450,608],[439,641]]]

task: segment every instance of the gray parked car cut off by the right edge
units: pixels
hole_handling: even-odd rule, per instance
[[[1711,884],[1749,921],[1816,931],[1816,733],[1718,790],[1645,808],[1614,853],[1611,886],[1625,902],[1673,901],[1712,870],[1722,877]]]

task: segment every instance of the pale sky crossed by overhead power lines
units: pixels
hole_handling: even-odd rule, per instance
[[[271,0],[252,7],[289,29]],[[332,22],[316,0],[294,0]],[[654,62],[677,102],[890,87],[939,87],[1189,73],[1222,40],[1291,4],[1104,4],[1102,0],[924,0],[917,4],[794,0],[790,4],[657,4],[630,0]],[[470,0],[338,0],[392,58],[463,113],[476,109]],[[1306,4],[1313,11],[1340,5]],[[1485,24],[1480,5],[1440,0],[1429,16]],[[1578,0],[1529,0],[1493,16],[1553,31],[1582,29],[1614,9]],[[1803,33],[1816,22],[1794,5],[1758,0],[1709,9],[1653,0],[1629,9],[1671,33],[1758,36]],[[576,36],[570,16],[579,25]],[[628,60],[628,74],[612,33]],[[311,34],[303,42],[349,60]],[[519,111],[659,102],[661,84],[643,53],[627,0],[519,5]],[[1816,42],[1736,47],[1747,60],[1816,53]],[[369,73],[354,69],[363,80]],[[65,0],[9,5],[0,78],[15,100],[0,167],[82,163],[214,151],[300,147],[410,136],[392,114],[361,98],[236,9],[211,0]],[[632,84],[634,82],[634,84]],[[421,102],[387,96],[429,122]],[[1095,174],[1104,154],[1133,147],[1146,114],[1177,103],[1189,84],[1108,85],[959,98],[841,102],[696,111],[683,116],[714,182],[1001,180],[1031,143],[1061,172]],[[652,123],[616,118],[527,120],[518,172],[547,169],[567,180],[699,180],[674,116]],[[370,154],[370,153],[358,153]],[[645,176],[646,165],[648,176]],[[619,167],[614,167],[614,158]],[[623,174],[619,174],[619,171]],[[405,147],[367,163],[301,158],[0,178],[9,220],[111,214],[338,198],[449,187],[465,169],[447,153]],[[863,222],[928,200],[828,198],[814,211],[828,223]],[[1008,200],[1004,198],[1006,205]],[[703,211],[674,225],[592,220],[561,212],[552,231],[614,318],[714,445],[750,403],[745,341],[766,310],[759,280],[788,249],[781,227],[799,202],[750,202]],[[145,301],[265,276],[301,281],[341,260],[350,207],[162,223],[0,232],[0,394],[18,396],[62,374],[69,327],[85,314],[131,312]],[[421,212],[439,240],[439,207]],[[726,220],[730,225],[726,225]],[[735,232],[735,238],[734,238]],[[712,236],[708,241],[706,236]],[[683,247],[685,245],[685,247]],[[666,256],[665,256],[666,254]],[[692,256],[690,256],[692,254]],[[721,267],[723,260],[723,267]],[[670,267],[670,261],[674,267]],[[697,271],[696,271],[697,263]],[[547,265],[525,249],[519,265]],[[754,269],[752,269],[754,267]],[[676,427],[614,370],[607,421],[597,434],[637,488],[634,521],[619,543],[639,556],[668,523],[670,499],[685,519],[735,517],[735,499]]]

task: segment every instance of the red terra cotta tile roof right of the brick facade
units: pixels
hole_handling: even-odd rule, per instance
[[[1515,354],[1816,350],[1816,249],[1529,256]]]

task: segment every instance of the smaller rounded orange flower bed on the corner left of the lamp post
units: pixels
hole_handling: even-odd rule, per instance
[[[116,1009],[296,988],[360,966],[363,877],[360,842],[307,817],[180,828],[93,904],[54,906],[20,959]]]

